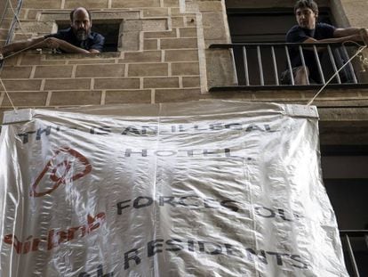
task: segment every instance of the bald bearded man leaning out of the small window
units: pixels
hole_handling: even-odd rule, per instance
[[[105,38],[92,32],[91,28],[91,12],[83,7],[76,8],[70,12],[70,28],[61,29],[56,34],[5,45],[0,48],[0,60],[7,53],[36,48],[57,49],[61,53],[100,53]]]

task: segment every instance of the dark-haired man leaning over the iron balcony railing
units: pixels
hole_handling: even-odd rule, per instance
[[[294,13],[298,25],[295,25],[286,34],[287,43],[342,43],[346,41],[368,41],[367,29],[359,28],[335,28],[326,23],[317,23],[318,5],[313,0],[299,0],[294,6]],[[306,67],[302,66],[302,60],[298,47],[290,48],[292,61],[292,76],[295,85],[308,85],[309,82],[321,83],[315,53],[313,49],[303,47],[303,56]],[[318,56],[321,58],[323,48],[318,48]],[[291,85],[290,69],[281,75],[283,85]]]

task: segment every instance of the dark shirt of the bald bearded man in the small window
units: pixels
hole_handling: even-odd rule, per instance
[[[44,37],[56,37],[65,40],[70,45],[75,45],[85,50],[95,49],[102,52],[103,45],[105,43],[105,37],[98,33],[91,32],[91,34],[84,41],[79,41],[71,28],[60,29],[56,34],[50,34]]]

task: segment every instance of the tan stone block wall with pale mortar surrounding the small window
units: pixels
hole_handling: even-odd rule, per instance
[[[15,7],[17,1],[12,3]],[[201,16],[188,11],[186,1],[24,0],[12,41],[56,31],[79,5],[91,10],[94,24],[120,24],[118,51],[84,55],[32,50],[6,59],[0,77],[17,108],[179,102],[206,94]],[[12,18],[8,9],[1,45]],[[12,108],[4,87],[0,107]]]

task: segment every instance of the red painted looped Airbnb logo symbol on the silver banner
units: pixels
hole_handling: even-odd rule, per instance
[[[72,159],[70,159],[70,156],[72,157]],[[55,164],[55,161],[57,161],[58,159],[60,160],[60,158],[63,158],[64,160],[62,160],[58,164]],[[74,166],[77,161],[79,161],[79,163],[84,168],[75,175],[70,176],[69,172],[72,169],[72,166]],[[73,170],[76,169],[73,168]],[[29,195],[33,197],[40,197],[44,196],[45,194],[50,194],[52,193],[52,191],[55,191],[60,186],[60,184],[82,178],[84,175],[89,174],[91,170],[91,164],[81,153],[68,147],[60,148],[60,150],[56,151],[52,159],[50,159],[50,161],[46,164],[41,174],[38,175],[36,182],[32,184]],[[45,191],[36,191],[38,184],[41,182],[47,172],[51,173],[50,179],[53,182],[52,188]]]

